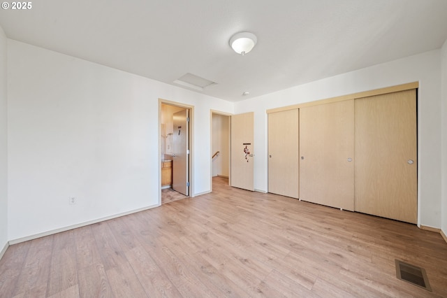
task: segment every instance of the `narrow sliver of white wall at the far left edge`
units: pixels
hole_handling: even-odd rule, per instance
[[[7,39],[0,27],[0,257],[8,242]]]

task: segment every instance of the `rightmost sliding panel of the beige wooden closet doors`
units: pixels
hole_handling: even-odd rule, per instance
[[[416,90],[356,99],[356,211],[417,222]]]

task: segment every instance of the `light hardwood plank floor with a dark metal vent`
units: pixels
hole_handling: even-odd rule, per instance
[[[228,187],[10,246],[0,297],[447,297],[415,225]],[[423,267],[433,292],[395,277]]]

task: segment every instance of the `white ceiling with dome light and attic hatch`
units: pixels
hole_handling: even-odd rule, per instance
[[[441,48],[447,0],[38,0],[0,10],[8,38],[240,101]],[[230,37],[258,44],[237,55]],[[248,97],[242,93],[249,91]]]

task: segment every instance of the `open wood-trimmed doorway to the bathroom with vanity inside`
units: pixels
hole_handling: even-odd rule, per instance
[[[159,101],[160,204],[191,197],[193,107]]]

